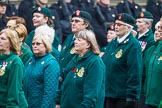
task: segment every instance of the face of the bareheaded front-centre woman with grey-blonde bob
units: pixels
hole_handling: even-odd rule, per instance
[[[90,47],[90,44],[82,38],[76,38],[74,41],[74,47],[76,53],[82,56],[87,52],[87,50]]]

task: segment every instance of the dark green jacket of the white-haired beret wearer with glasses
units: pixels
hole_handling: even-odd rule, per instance
[[[139,99],[141,91],[142,51],[130,33],[118,43],[112,40],[102,57],[106,65],[106,97]]]

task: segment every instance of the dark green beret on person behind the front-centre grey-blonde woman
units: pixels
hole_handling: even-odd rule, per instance
[[[75,11],[72,15],[72,18],[73,17],[80,17],[88,22],[90,22],[92,19],[92,16],[88,12],[80,10]]]

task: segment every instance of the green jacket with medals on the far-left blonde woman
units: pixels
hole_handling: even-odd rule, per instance
[[[0,107],[26,108],[28,106],[22,82],[24,65],[14,53],[0,54]]]

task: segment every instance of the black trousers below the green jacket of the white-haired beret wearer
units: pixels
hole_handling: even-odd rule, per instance
[[[137,108],[137,102],[127,103],[126,99],[105,98],[104,108]]]

